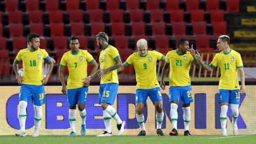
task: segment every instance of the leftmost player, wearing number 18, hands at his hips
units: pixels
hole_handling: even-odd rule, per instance
[[[16,136],[25,137],[25,122],[27,118],[27,102],[32,102],[35,110],[35,130],[33,137],[38,137],[38,130],[42,120],[42,105],[45,103],[44,85],[47,83],[49,76],[53,70],[53,61],[48,53],[39,48],[40,39],[37,33],[29,33],[27,35],[28,48],[21,49],[13,63],[13,69],[19,85],[21,85],[19,94],[19,122],[21,129],[15,133]],[[48,73],[43,77],[43,60],[48,62]],[[18,74],[18,63],[22,61],[24,74],[21,77]]]

